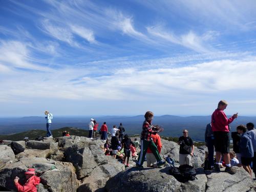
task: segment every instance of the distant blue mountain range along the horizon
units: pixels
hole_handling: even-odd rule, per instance
[[[56,117],[53,118],[52,130],[60,127],[78,127],[82,130],[88,130],[88,124],[91,117]],[[144,121],[143,115],[128,116],[100,116],[93,117],[99,123],[99,128],[106,122],[109,130],[113,125],[118,126],[119,123],[125,127],[125,133],[129,135],[140,134],[141,126]],[[188,129],[189,136],[195,140],[204,140],[204,132],[206,125],[210,122],[210,116],[189,116],[181,117],[174,115],[155,116],[153,124],[158,124],[164,128],[164,132],[160,135],[179,137],[182,135],[183,129]],[[256,124],[256,117],[239,116],[231,125],[231,131],[236,130],[239,124],[253,122]],[[46,130],[45,117],[22,117],[22,118],[0,118],[0,135],[14,134],[29,130]]]

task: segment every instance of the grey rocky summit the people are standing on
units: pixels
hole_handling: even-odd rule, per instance
[[[134,138],[132,138],[134,139]],[[103,154],[102,140],[86,137],[68,136],[42,141],[16,141],[14,146],[23,146],[24,152],[14,154],[9,146],[12,141],[4,140],[0,145],[0,190],[16,191],[14,178],[26,182],[24,173],[35,168],[41,182],[39,192],[47,191],[254,191],[256,185],[243,168],[236,167],[237,173],[205,175],[201,167],[197,168],[194,181],[181,183],[169,174],[170,167],[143,169],[135,167],[131,158],[131,167],[125,167],[112,156]],[[162,139],[161,156],[168,154],[178,162],[177,143]],[[195,147],[193,164],[204,161],[205,146]],[[15,150],[14,150],[15,151]],[[176,163],[178,166],[178,163]]]

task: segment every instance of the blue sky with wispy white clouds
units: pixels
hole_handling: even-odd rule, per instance
[[[0,0],[0,116],[255,116],[254,0]]]

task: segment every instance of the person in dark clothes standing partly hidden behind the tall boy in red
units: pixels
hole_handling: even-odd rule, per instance
[[[214,133],[211,129],[211,123],[206,125],[204,139],[208,148],[208,163],[211,169],[214,169]]]

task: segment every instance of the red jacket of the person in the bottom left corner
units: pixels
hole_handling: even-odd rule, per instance
[[[15,183],[18,192],[37,192],[36,185],[39,185],[40,178],[32,176],[28,181],[22,186],[18,182]]]

